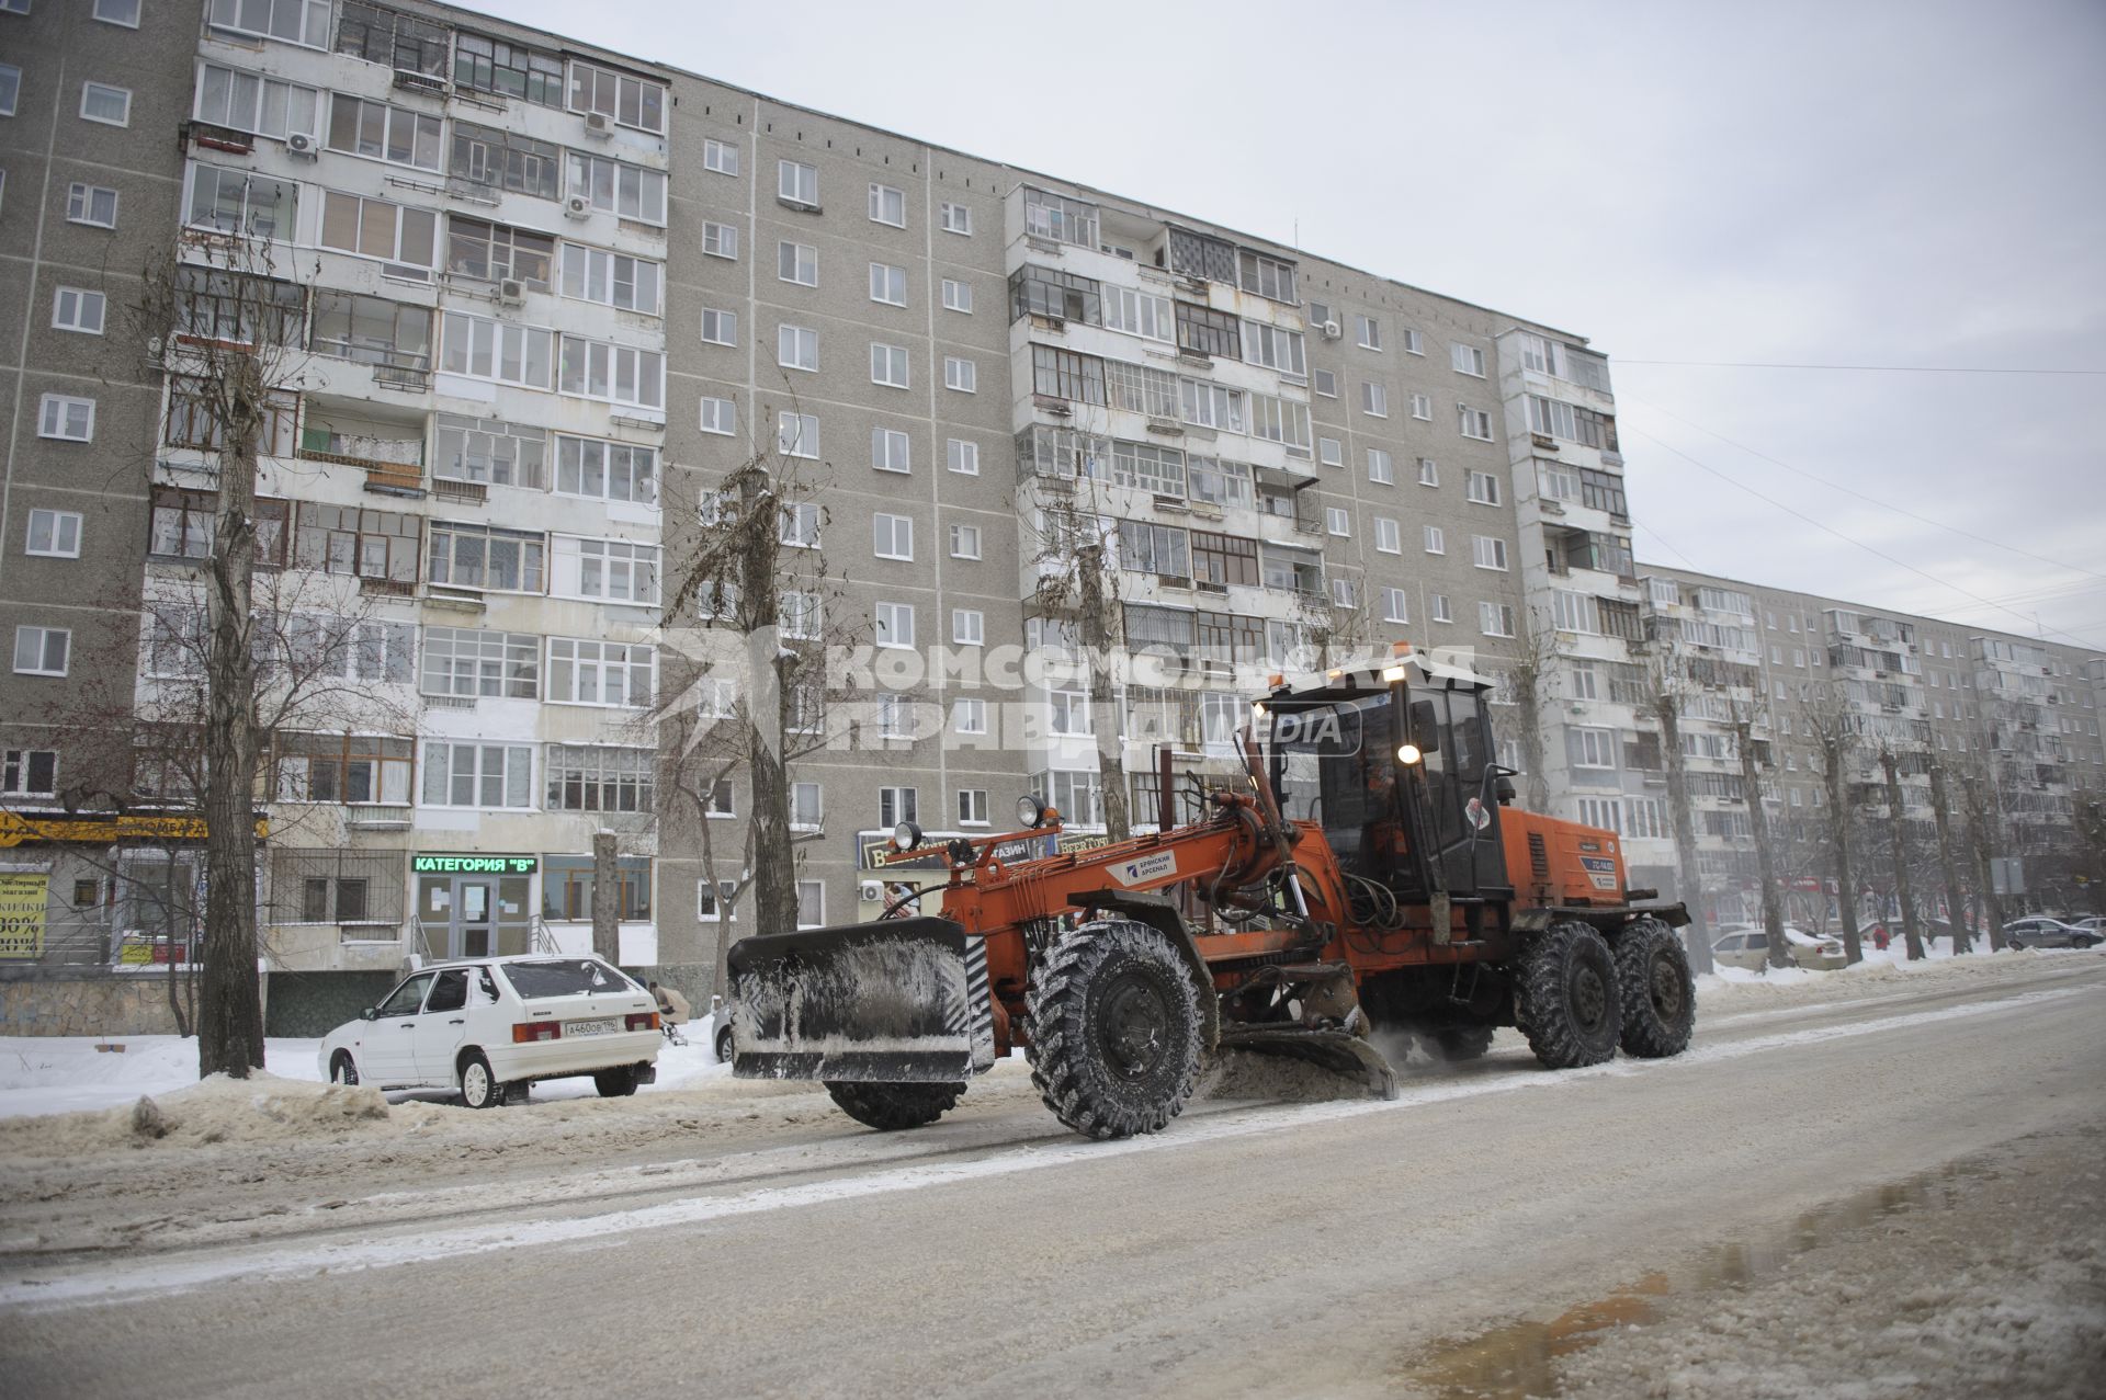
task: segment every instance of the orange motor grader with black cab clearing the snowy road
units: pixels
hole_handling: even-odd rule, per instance
[[[1059,815],[1024,798],[1021,832],[943,840],[948,882],[876,922],[735,943],[733,1074],[910,1128],[1024,1046],[1047,1107],[1104,1139],[1160,1131],[1228,1046],[1386,1095],[1371,1032],[1468,1059],[1516,1025],[1552,1069],[1681,1053],[1683,905],[1626,886],[1613,832],[1508,806],[1487,682],[1398,651],[1274,678],[1243,781],[1184,825],[1165,773],[1158,832],[1047,855]],[[912,823],[893,846],[929,855]]]

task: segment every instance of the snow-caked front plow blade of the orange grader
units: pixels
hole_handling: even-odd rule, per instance
[[[731,945],[731,1074],[960,1084],[994,1065],[986,943],[948,918]]]

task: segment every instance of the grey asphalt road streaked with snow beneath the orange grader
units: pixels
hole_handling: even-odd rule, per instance
[[[2106,958],[2039,958],[1710,1017],[1676,1061],[1546,1074],[1502,1036],[1396,1103],[1209,1101],[1127,1145],[1011,1082],[912,1135],[756,1122],[423,1219],[280,1202],[253,1240],[0,1257],[0,1392],[1441,1394],[1457,1337],[2098,1133],[2102,1027]]]

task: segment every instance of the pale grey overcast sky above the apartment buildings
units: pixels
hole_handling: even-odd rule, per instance
[[[480,4],[1586,335],[1641,560],[2106,651],[2100,0]]]

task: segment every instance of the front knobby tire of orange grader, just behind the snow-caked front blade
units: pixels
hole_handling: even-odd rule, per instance
[[[1087,1137],[1160,1133],[1198,1078],[1198,989],[1148,924],[1070,931],[1030,987],[1032,1084]]]

